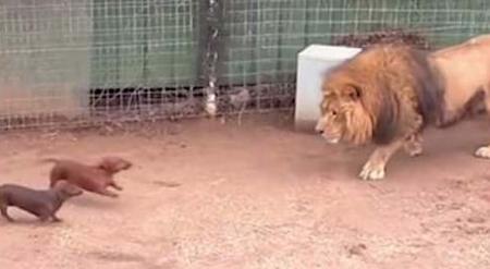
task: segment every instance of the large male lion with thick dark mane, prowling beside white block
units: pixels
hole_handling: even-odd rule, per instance
[[[359,176],[381,180],[400,148],[422,152],[425,126],[455,123],[481,96],[490,106],[489,82],[490,36],[434,52],[373,46],[327,74],[316,130],[332,144],[376,144]],[[490,158],[490,145],[476,156]]]

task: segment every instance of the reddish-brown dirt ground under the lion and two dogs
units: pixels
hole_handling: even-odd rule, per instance
[[[69,200],[61,223],[10,209],[0,268],[490,268],[490,124],[428,130],[388,179],[357,173],[370,148],[327,145],[283,115],[161,123],[138,132],[0,136],[0,182],[45,187],[62,156],[120,155],[119,199]]]

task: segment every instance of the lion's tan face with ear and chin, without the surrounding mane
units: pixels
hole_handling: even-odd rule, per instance
[[[371,138],[372,120],[363,106],[360,89],[352,83],[335,77],[323,84],[321,118],[316,131],[328,143],[346,140],[363,144]]]

